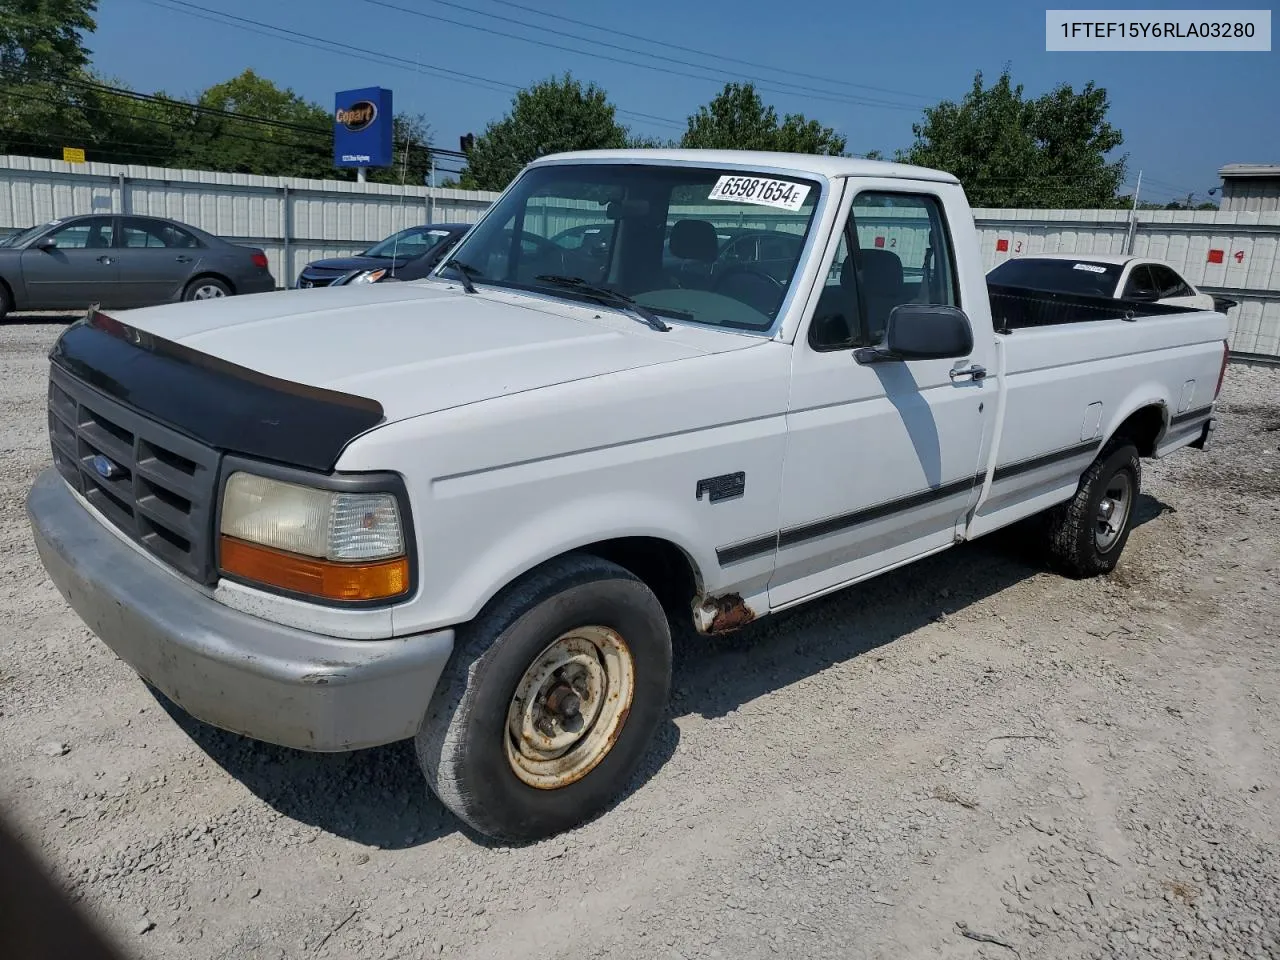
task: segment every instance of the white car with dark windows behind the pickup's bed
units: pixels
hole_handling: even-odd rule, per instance
[[[1174,303],[1197,310],[1217,308],[1213,297],[1201,293],[1169,264],[1121,253],[1033,253],[1012,257],[992,268],[987,279],[1009,287]]]

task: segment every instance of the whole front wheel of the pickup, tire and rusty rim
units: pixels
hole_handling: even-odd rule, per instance
[[[417,733],[419,762],[474,829],[539,840],[617,799],[669,689],[671,631],[653,591],[608,561],[563,557],[460,634]]]

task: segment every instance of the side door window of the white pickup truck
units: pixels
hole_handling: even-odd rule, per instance
[[[937,197],[860,193],[809,328],[814,349],[877,343],[902,303],[956,306],[951,242]]]

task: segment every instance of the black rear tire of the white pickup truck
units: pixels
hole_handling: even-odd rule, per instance
[[[1124,518],[1114,525],[1114,532],[1105,534],[1101,531],[1102,502],[1112,499],[1107,497],[1108,489],[1121,485],[1124,477],[1128,477],[1129,485]],[[1080,579],[1115,570],[1133,530],[1140,490],[1142,460],[1138,448],[1128,439],[1112,440],[1080,476],[1075,497],[1048,512],[1050,563],[1062,573]],[[1103,544],[1100,539],[1108,541]]]

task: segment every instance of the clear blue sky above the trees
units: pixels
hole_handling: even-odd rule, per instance
[[[422,15],[388,9],[383,3]],[[911,123],[920,118],[923,106],[961,97],[975,70],[995,79],[1009,63],[1014,79],[1030,95],[1061,82],[1079,88],[1092,79],[1106,87],[1112,105],[1110,119],[1125,136],[1119,152],[1129,154],[1129,183],[1143,170],[1144,198],[1167,200],[1194,192],[1203,200],[1208,188],[1217,186],[1222,164],[1280,161],[1280,54],[1051,54],[1044,51],[1044,4],[518,0],[526,9],[498,0],[173,4],[100,0],[99,29],[90,38],[95,65],[136,90],[164,88],[177,95],[195,93],[252,68],[326,108],[332,108],[338,90],[390,87],[396,109],[425,114],[435,145],[451,150],[457,150],[461,133],[480,133],[488,120],[507,110],[512,87],[570,69],[607,90],[625,111],[621,119],[636,132],[678,136],[685,118],[726,81],[753,77],[762,81],[758,86],[780,114],[800,111],[836,127],[849,137],[852,151],[878,148],[891,154],[911,142]],[[1078,6],[1114,5],[1093,0]],[[1211,6],[1202,3],[1198,9]],[[302,46],[255,32],[260,28],[251,24],[201,19],[198,9],[376,51],[379,56],[361,59],[364,55],[353,51]],[[508,19],[497,20],[485,13]],[[746,63],[658,46],[557,20],[550,14]],[[490,31],[513,36],[494,36]],[[549,31],[591,37],[599,44]],[[530,41],[590,50],[655,69]],[[645,50],[649,55],[600,44]],[[431,68],[471,74],[498,86],[431,73]],[[781,73],[780,68],[810,77]]]

